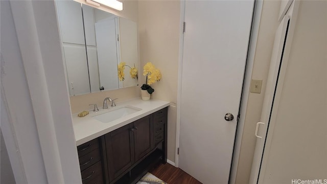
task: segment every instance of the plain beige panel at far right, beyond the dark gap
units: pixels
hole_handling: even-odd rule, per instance
[[[284,84],[277,87],[281,97],[268,130],[262,183],[327,179],[326,51],[327,2],[301,1]]]

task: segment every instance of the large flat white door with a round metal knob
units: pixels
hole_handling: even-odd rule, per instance
[[[253,1],[185,1],[179,167],[203,183],[228,183],[252,12]]]

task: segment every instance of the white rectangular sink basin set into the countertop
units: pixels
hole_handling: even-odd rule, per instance
[[[103,123],[109,123],[111,121],[123,118],[129,114],[142,110],[140,108],[125,106],[119,108],[112,108],[110,111],[94,116],[93,118]]]

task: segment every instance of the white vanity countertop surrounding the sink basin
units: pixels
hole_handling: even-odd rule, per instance
[[[90,111],[89,114],[83,118],[77,116],[78,113],[73,114],[73,127],[75,133],[76,145],[79,146],[88,141],[96,139],[97,137],[104,135],[112,130],[118,129],[124,125],[127,125],[131,122],[134,122],[140,118],[148,116],[149,114],[169,106],[170,102],[161,101],[161,100],[149,100],[143,101],[140,99],[133,99],[130,101],[125,101],[121,103],[116,103],[117,106],[111,107],[108,102],[108,109],[99,108],[98,112]],[[110,111],[114,108],[120,108],[122,106],[133,106],[141,108],[137,112],[131,113],[123,118],[111,121],[109,123],[102,123],[92,117],[97,114]]]

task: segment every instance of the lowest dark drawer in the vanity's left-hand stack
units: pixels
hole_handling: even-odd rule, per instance
[[[93,166],[85,169],[81,172],[82,174],[82,183],[91,183],[91,181],[98,180],[100,177],[102,178],[102,167],[101,162],[94,164]]]

